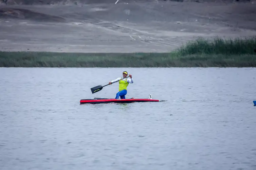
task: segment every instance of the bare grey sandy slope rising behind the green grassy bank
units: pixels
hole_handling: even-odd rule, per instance
[[[115,1],[1,5],[0,50],[166,52],[198,37],[256,35],[253,3]]]

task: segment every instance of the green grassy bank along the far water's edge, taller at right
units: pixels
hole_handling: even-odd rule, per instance
[[[168,53],[1,52],[0,67],[256,67],[256,37],[198,39]]]

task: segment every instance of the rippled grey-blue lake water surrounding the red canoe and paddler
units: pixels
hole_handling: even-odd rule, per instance
[[[85,104],[114,98],[163,102]],[[256,68],[0,68],[1,170],[255,170]]]

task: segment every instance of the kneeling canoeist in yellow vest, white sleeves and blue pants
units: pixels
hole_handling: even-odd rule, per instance
[[[119,77],[119,78],[112,80],[108,83],[108,84],[112,84],[112,82],[119,80],[119,92],[116,93],[115,99],[118,99],[119,97],[121,99],[125,99],[125,95],[127,94],[127,86],[129,83],[133,83],[132,76],[129,74],[128,77],[130,77],[130,78],[128,79],[127,75],[128,75],[128,73],[126,71],[124,71],[123,77]],[[127,78],[125,78],[125,77],[127,77]],[[125,79],[122,79],[122,78],[125,78]]]

